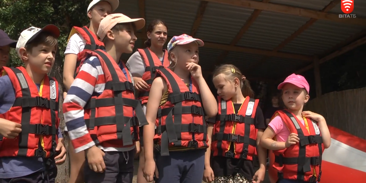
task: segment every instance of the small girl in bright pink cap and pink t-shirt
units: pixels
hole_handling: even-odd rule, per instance
[[[277,88],[287,109],[275,113],[261,138],[261,145],[275,155],[277,182],[320,182],[322,153],[330,146],[330,134],[323,116],[303,111],[309,83],[291,74]]]

